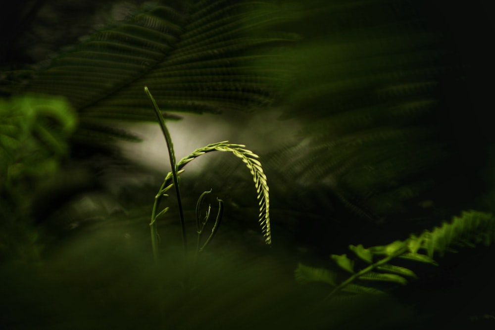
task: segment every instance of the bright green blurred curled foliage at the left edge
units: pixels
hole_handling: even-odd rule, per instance
[[[62,97],[22,95],[0,99],[0,117],[0,193],[29,194],[21,186],[44,180],[67,153],[77,127],[74,110]]]

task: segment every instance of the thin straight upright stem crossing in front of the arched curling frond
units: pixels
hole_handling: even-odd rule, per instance
[[[163,115],[161,114],[161,111],[158,108],[158,104],[156,104],[153,95],[151,95],[151,93],[148,90],[148,87],[146,86],[145,86],[145,93],[148,95],[149,99],[151,100],[151,103],[153,104],[153,109],[155,110],[156,116],[158,117],[158,122],[160,123],[161,131],[163,133],[163,136],[165,137],[165,141],[167,142],[168,156],[170,159],[170,166],[172,168],[172,178],[174,181],[175,192],[177,195],[177,205],[179,207],[179,216],[181,220],[182,242],[184,244],[184,251],[187,252],[186,222],[184,220],[184,210],[182,208],[181,193],[179,189],[179,179],[177,177],[178,168],[175,164],[174,145],[172,143],[172,138],[170,137],[170,133],[168,132],[167,126],[165,125],[165,119],[163,118]]]

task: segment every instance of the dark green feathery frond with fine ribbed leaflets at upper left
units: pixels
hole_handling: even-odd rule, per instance
[[[154,86],[167,111],[267,105],[283,79],[260,60],[277,57],[267,47],[296,40],[267,33],[284,15],[268,2],[149,3],[66,47],[14,90],[65,96],[80,116],[76,137],[86,140],[118,136],[102,120],[152,121],[144,85]]]

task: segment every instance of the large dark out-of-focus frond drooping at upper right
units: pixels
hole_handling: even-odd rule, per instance
[[[453,102],[445,91],[465,79],[445,47],[447,33],[428,21],[421,1],[307,2],[305,38],[284,58],[303,63],[282,115],[301,123],[300,139],[274,151],[267,166],[291,184],[325,185],[354,218],[434,218],[433,210],[451,207],[435,189],[453,189],[465,172],[452,160],[465,157],[454,140],[469,122],[446,134],[450,118],[459,112],[465,119],[471,109],[446,107]],[[466,202],[461,195],[469,190],[459,190],[456,198]]]

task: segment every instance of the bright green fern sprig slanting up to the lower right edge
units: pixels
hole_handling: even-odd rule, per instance
[[[352,274],[344,281],[337,281],[334,272],[312,268],[299,264],[296,269],[296,279],[300,283],[324,282],[334,286],[328,297],[339,291],[351,293],[373,292],[377,289],[362,283],[398,283],[406,284],[410,279],[417,279],[416,274],[405,267],[391,262],[407,259],[416,262],[438,265],[433,259],[434,254],[443,256],[447,251],[455,251],[455,246],[489,246],[495,239],[495,218],[492,214],[466,211],[460,217],[454,217],[452,222],[444,223],[432,231],[424,231],[421,235],[410,235],[406,240],[396,240],[388,245],[364,248],[362,245],[350,245],[349,249],[368,266],[354,269],[354,260],[346,254],[332,255],[332,259],[344,271]],[[359,282],[359,284],[356,284]],[[377,292],[382,292],[377,290]]]

